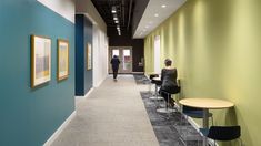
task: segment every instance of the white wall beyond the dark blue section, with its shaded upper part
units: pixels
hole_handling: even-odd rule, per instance
[[[108,75],[107,25],[91,0],[77,0],[76,12],[84,14],[93,24],[93,86],[97,87]]]

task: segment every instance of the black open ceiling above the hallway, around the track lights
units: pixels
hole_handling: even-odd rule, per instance
[[[117,8],[117,15],[121,30],[131,30],[133,6],[135,0],[91,0],[96,9],[106,21],[108,29],[116,29],[113,15],[111,13],[112,7]],[[116,29],[117,30],[117,29]]]

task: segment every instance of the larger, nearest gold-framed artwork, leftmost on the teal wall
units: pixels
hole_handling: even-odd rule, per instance
[[[51,39],[31,35],[31,87],[51,80]]]

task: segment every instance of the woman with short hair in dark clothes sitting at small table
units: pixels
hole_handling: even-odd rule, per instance
[[[165,67],[161,70],[161,81],[162,85],[160,87],[160,95],[164,97],[165,102],[170,103],[170,105],[174,106],[174,100],[171,98],[171,94],[175,94],[180,92],[180,87],[177,83],[178,72],[175,67],[171,67],[172,61],[170,59],[165,59],[164,61]]]

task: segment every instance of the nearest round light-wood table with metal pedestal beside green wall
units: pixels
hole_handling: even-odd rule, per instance
[[[217,98],[183,98],[180,100],[179,103],[203,109],[203,128],[209,128],[209,109],[221,109],[234,106],[234,104],[229,101]],[[208,146],[207,137],[203,138],[203,146]]]

